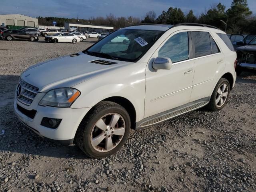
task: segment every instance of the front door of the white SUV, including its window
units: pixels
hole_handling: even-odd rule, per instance
[[[153,54],[146,68],[144,118],[187,104],[194,77],[190,32],[180,30],[167,38]],[[169,70],[154,70],[156,57],[172,60]]]

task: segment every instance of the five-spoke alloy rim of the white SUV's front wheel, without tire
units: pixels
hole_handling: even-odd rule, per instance
[[[101,117],[91,132],[91,145],[99,152],[108,152],[121,142],[125,133],[124,118],[117,113]]]

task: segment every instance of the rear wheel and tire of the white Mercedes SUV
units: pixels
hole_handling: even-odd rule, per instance
[[[224,85],[226,85],[226,87]],[[225,78],[220,78],[220,80],[218,81],[217,85],[214,88],[210,102],[207,105],[208,109],[211,111],[219,111],[222,108],[224,108],[224,106],[226,106],[228,102],[229,94],[230,94],[230,84],[228,80]],[[222,103],[221,103],[221,100],[222,100]],[[216,102],[218,103],[216,104]]]

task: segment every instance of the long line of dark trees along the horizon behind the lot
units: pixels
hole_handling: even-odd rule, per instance
[[[226,9],[221,3],[212,4],[199,16],[195,16],[193,10],[188,13],[182,12],[180,8],[170,7],[162,11],[157,17],[154,10],[147,12],[143,18],[138,17],[116,17],[108,14],[106,17],[90,17],[88,19],[78,18],[58,18],[58,17],[38,17],[40,25],[52,25],[52,21],[57,22],[57,26],[64,26],[64,22],[80,24],[96,24],[114,26],[114,29],[123,28],[138,23],[155,24],[178,24],[182,22],[202,23],[216,26],[227,33],[256,33],[256,16],[252,15],[247,0],[233,0],[230,8]]]

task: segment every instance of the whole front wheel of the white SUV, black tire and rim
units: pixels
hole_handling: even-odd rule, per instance
[[[111,125],[111,119],[115,119],[114,123],[116,122],[116,124]],[[103,124],[99,122],[103,122]],[[107,127],[105,123],[108,124]],[[103,128],[98,128],[96,124],[103,125],[101,126]],[[104,158],[116,153],[124,145],[130,132],[130,125],[130,116],[122,106],[114,102],[102,101],[86,114],[78,127],[75,140],[78,147],[86,155],[92,158]],[[104,130],[105,128],[107,129]],[[119,136],[115,134],[117,131],[119,131]],[[99,144],[98,142],[95,143],[93,138],[97,138],[95,140],[98,142],[100,142],[99,139],[101,138],[101,142]],[[109,142],[107,141],[110,140],[112,142],[108,146]]]

